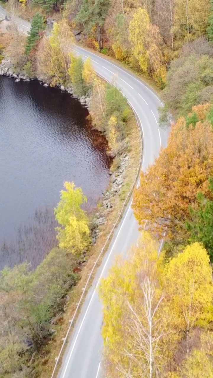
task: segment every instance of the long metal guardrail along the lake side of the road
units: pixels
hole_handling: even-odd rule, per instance
[[[104,79],[104,80],[106,80],[106,79]],[[58,355],[58,357],[57,357],[57,359],[56,359],[55,367],[54,367],[54,369],[53,369],[53,373],[52,373],[51,378],[54,378],[54,377],[55,377],[55,373],[56,373],[56,370],[57,370],[58,364],[59,364],[59,362],[60,362],[60,358],[61,358],[61,356],[62,356],[62,352],[63,352],[63,350],[64,350],[64,346],[65,346],[65,344],[66,344],[66,342],[67,342],[67,339],[68,339],[68,336],[69,336],[70,330],[71,330],[71,328],[72,328],[73,322],[74,322],[74,320],[75,320],[76,314],[77,314],[77,312],[78,312],[78,309],[80,308],[80,305],[82,304],[82,299],[83,299],[83,297],[84,297],[84,294],[85,294],[86,290],[87,290],[88,287],[89,287],[89,281],[90,281],[90,279],[91,279],[91,277],[92,277],[92,273],[94,272],[94,270],[95,270],[95,268],[96,268],[96,266],[97,266],[97,263],[99,262],[99,259],[100,259],[100,257],[102,256],[103,251],[104,251],[104,249],[106,248],[106,246],[107,246],[107,244],[108,244],[108,242],[109,242],[109,240],[110,240],[110,237],[112,236],[112,234],[113,234],[113,232],[114,232],[114,229],[116,228],[116,226],[118,225],[118,223],[119,223],[119,221],[120,221],[120,218],[121,218],[121,216],[122,216],[122,213],[123,213],[123,210],[124,210],[124,208],[125,208],[125,205],[127,204],[127,201],[129,200],[129,198],[130,198],[131,195],[132,195],[133,188],[135,187],[136,181],[137,181],[138,176],[139,176],[139,172],[140,172],[140,170],[141,170],[140,168],[141,168],[141,165],[142,165],[142,163],[143,163],[143,162],[141,161],[141,160],[142,160],[142,151],[143,151],[143,128],[142,128],[141,122],[139,121],[139,118],[138,118],[138,115],[137,115],[135,109],[132,107],[132,105],[131,105],[129,102],[128,102],[128,104],[130,105],[130,107],[132,108],[132,110],[133,110],[133,112],[134,112],[134,114],[135,114],[135,117],[136,117],[136,120],[137,120],[137,123],[138,123],[138,127],[139,127],[139,131],[140,131],[140,138],[141,138],[140,163],[139,163],[139,165],[138,165],[138,170],[137,170],[137,173],[136,173],[135,180],[134,180],[134,182],[133,182],[133,184],[132,184],[132,187],[131,187],[130,191],[129,191],[128,194],[127,194],[127,197],[126,197],[126,199],[125,199],[125,201],[124,201],[124,204],[123,204],[123,206],[122,206],[121,212],[120,212],[119,216],[117,217],[117,220],[116,220],[116,222],[114,223],[114,226],[113,226],[113,228],[111,229],[110,234],[108,235],[107,240],[105,241],[104,246],[103,246],[103,248],[101,249],[101,251],[100,251],[100,253],[99,253],[99,256],[97,257],[97,260],[96,260],[96,262],[94,263],[94,266],[92,267],[92,270],[91,270],[91,272],[90,272],[90,274],[89,274],[89,277],[88,277],[88,279],[87,279],[87,281],[86,281],[86,285],[85,285],[85,287],[84,287],[84,289],[83,289],[83,292],[82,292],[82,294],[81,294],[80,300],[79,300],[79,302],[78,302],[78,304],[77,304],[77,307],[76,307],[76,309],[75,309],[74,315],[73,315],[73,317],[72,317],[72,319],[71,319],[71,321],[70,321],[70,325],[69,325],[69,328],[68,328],[68,330],[67,330],[66,336],[65,336],[65,338],[64,338],[64,341],[63,341],[63,344],[62,344],[61,350],[60,350],[59,355]]]

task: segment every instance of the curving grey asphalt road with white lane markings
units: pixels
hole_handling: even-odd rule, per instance
[[[1,15],[4,18],[6,12],[0,7],[0,17]],[[24,32],[30,28],[30,24],[25,21],[16,19],[16,22],[20,24]],[[145,171],[153,163],[155,156],[158,156],[160,147],[165,147],[167,143],[168,130],[164,131],[158,127],[160,99],[148,85],[118,64],[78,46],[75,46],[73,50],[77,55],[80,54],[83,59],[90,56],[97,74],[121,88],[122,93],[135,110],[143,132],[142,169]],[[96,289],[100,279],[107,276],[114,257],[117,254],[125,256],[131,245],[137,241],[138,235],[138,225],[133,215],[130,200],[121,223],[114,232],[113,240],[102,265],[97,271],[92,287],[86,296],[63,358],[62,367],[58,374],[59,378],[100,378],[103,347],[100,335],[102,304],[99,302]]]

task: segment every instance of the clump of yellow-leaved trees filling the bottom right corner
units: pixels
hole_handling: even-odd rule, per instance
[[[207,324],[212,295],[208,254],[199,243],[165,264],[157,243],[143,232],[128,259],[117,258],[100,285],[105,374],[189,378],[199,370],[191,361],[201,363],[202,355],[204,371],[212,372],[207,348],[213,338],[205,328],[201,336],[197,330]],[[197,351],[192,337],[208,347]]]

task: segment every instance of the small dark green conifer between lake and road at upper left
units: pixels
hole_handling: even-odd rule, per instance
[[[27,37],[27,42],[25,45],[25,54],[29,55],[30,51],[36,44],[36,40],[39,39],[39,33],[45,29],[44,17],[36,13],[31,22],[31,29]]]

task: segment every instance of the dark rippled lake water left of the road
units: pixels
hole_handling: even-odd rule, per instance
[[[74,181],[94,208],[109,162],[88,112],[59,89],[0,77],[0,268],[34,268],[55,245],[53,207]]]

